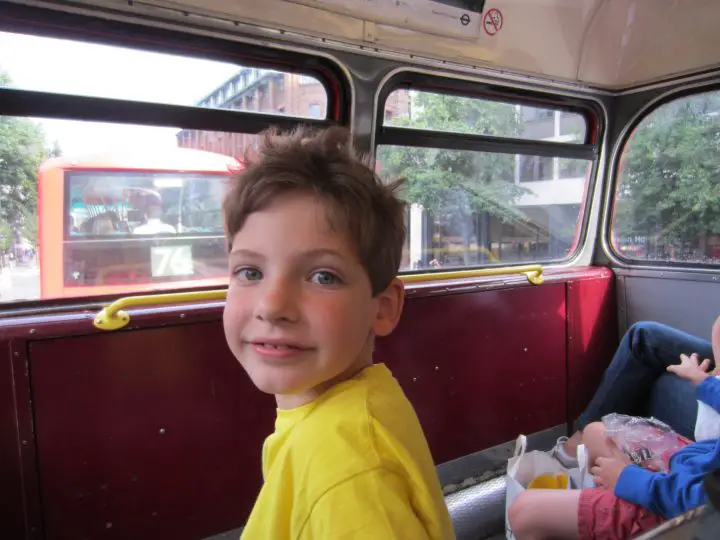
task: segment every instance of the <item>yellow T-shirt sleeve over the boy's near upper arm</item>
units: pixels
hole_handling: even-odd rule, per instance
[[[415,513],[407,482],[385,469],[363,472],[325,492],[306,517],[298,540],[429,538]],[[439,524],[436,524],[439,526]]]

